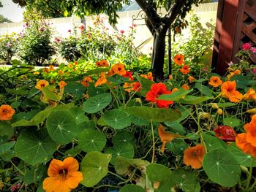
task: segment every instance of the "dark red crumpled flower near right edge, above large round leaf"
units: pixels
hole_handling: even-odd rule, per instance
[[[214,128],[215,136],[227,142],[236,141],[236,131],[230,126],[218,126]]]

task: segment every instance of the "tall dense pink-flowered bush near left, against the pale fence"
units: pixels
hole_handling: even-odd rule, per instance
[[[41,66],[55,53],[50,42],[52,32],[49,23],[44,20],[31,20],[26,24],[18,55],[28,64]]]

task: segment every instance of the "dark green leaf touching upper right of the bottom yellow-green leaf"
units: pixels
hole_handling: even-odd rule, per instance
[[[116,163],[116,158],[118,156],[133,158],[135,155],[134,148],[132,144],[130,144],[129,142],[118,143],[113,147],[108,147],[105,150],[105,153],[110,153],[112,155],[112,158],[110,161],[111,164]]]

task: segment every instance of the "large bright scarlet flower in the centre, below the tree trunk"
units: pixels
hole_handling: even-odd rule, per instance
[[[165,84],[162,82],[154,83],[151,85],[150,91],[146,93],[146,100],[150,102],[157,103],[159,108],[168,108],[170,104],[173,104],[173,101],[164,101],[158,100],[157,98],[162,94],[170,94],[171,91],[167,91]]]

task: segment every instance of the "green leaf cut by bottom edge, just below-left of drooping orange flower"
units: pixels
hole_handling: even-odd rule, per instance
[[[176,169],[171,178],[178,188],[181,188],[185,192],[200,192],[200,183],[197,180],[197,176],[193,172],[189,172],[186,169]]]

